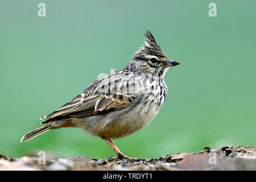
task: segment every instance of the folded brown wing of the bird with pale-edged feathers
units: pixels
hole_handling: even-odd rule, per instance
[[[53,111],[53,113],[40,119],[85,117],[106,113],[110,110],[122,109],[126,105],[132,104],[136,100],[136,96],[135,94],[121,91],[123,87],[121,79],[122,76],[114,72],[110,73],[110,75],[102,77],[90,84],[84,93],[73,98],[67,104]],[[115,80],[119,81],[115,82]]]

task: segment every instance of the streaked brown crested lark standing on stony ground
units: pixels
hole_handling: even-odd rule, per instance
[[[43,126],[32,130],[20,142],[46,131],[77,127],[105,140],[117,153],[113,159],[138,160],[124,155],[113,139],[122,138],[147,126],[158,114],[167,97],[164,77],[170,67],[179,65],[169,60],[152,33],[134,53],[125,68],[98,78],[67,104],[40,118]]]

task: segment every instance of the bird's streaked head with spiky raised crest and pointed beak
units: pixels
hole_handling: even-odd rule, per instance
[[[143,73],[165,75],[169,67],[180,64],[175,60],[169,60],[160,48],[150,31],[145,34],[146,41],[137,52],[134,53],[131,62]]]

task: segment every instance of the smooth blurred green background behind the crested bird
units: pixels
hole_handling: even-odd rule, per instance
[[[38,4],[46,4],[46,17]],[[205,146],[255,146],[255,1],[1,1],[0,153],[31,150],[108,158],[103,140],[75,128],[20,143],[100,73],[124,68],[150,30],[169,59],[168,96],[150,125],[114,140],[157,158]]]

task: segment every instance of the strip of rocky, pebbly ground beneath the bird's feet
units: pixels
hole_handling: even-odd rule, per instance
[[[45,164],[42,164],[45,163]],[[256,170],[256,148],[253,146],[205,147],[199,152],[170,154],[139,162],[113,159],[70,159],[37,155],[13,159],[0,154],[0,170]]]

